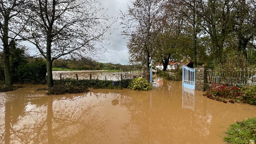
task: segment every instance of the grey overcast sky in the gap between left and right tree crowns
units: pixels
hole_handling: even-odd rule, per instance
[[[101,7],[107,10],[109,17],[120,17],[118,16],[120,10],[126,12],[127,5],[131,3],[130,0],[98,0],[98,2],[101,3]],[[120,22],[121,20],[118,18],[112,26],[112,29],[116,28],[116,30],[111,31],[112,34],[109,37],[109,43],[113,46],[107,48],[108,52],[95,58],[96,61],[129,64],[128,49],[126,48],[126,40],[124,40],[121,35],[123,29],[121,29],[122,26],[120,26]]]

